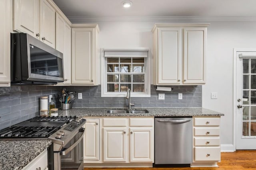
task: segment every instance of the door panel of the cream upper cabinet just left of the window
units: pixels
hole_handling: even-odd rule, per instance
[[[94,28],[72,28],[72,84],[94,84]]]

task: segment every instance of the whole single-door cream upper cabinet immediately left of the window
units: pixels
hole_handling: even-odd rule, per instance
[[[72,24],[72,84],[98,85],[98,24]]]

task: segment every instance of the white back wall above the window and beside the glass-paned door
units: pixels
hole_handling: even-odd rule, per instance
[[[151,30],[154,23],[160,22],[100,21],[97,23],[100,27],[100,48],[149,47],[152,49]],[[222,150],[232,150],[233,48],[256,48],[256,22],[197,23],[210,23],[206,59],[207,79],[202,87],[202,106],[225,114],[221,117],[221,144],[229,147]],[[211,92],[218,92],[218,99],[210,99]]]

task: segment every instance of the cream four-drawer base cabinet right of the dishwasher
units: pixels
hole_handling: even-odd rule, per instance
[[[192,166],[217,166],[220,161],[220,117],[193,117]]]

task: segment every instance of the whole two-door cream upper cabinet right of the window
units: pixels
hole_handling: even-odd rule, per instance
[[[153,84],[205,84],[208,24],[155,24]]]

